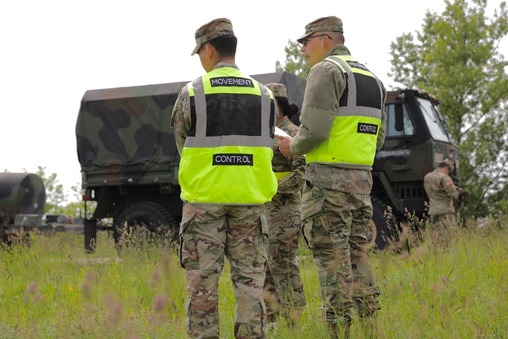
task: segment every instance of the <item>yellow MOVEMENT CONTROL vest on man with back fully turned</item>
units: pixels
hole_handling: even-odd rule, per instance
[[[235,68],[187,84],[190,129],[178,170],[189,203],[264,204],[277,191],[272,171],[273,94]]]

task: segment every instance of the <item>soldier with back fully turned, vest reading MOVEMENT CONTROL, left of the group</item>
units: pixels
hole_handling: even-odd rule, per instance
[[[236,66],[229,19],[204,24],[195,37],[191,55],[199,54],[207,74],[181,89],[171,124],[181,155],[186,330],[193,338],[219,338],[218,281],[226,257],[235,337],[266,338],[264,204],[277,190],[271,165],[277,111],[271,91]]]

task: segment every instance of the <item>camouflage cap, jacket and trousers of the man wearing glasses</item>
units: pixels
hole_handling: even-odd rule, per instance
[[[323,19],[323,20],[322,20]],[[342,32],[342,22],[336,17],[315,20],[306,26],[300,39],[320,31]],[[319,21],[322,27],[319,27]],[[350,55],[338,44],[325,55]],[[346,80],[342,71],[331,62],[320,61],[310,70],[300,116],[301,126],[290,149],[303,155],[321,145],[330,136],[339,99]],[[351,89],[350,89],[351,90]],[[383,146],[386,129],[383,88],[381,124],[376,149]],[[344,145],[362,147],[362,145]],[[307,164],[302,193],[304,236],[319,272],[324,298],[323,311],[331,328],[335,324],[350,324],[353,305],[361,317],[372,316],[379,309],[379,289],[374,281],[369,261],[367,223],[372,216],[370,190],[371,166],[339,163]],[[348,325],[345,325],[348,328]]]

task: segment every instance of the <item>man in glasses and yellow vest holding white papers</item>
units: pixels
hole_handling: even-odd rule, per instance
[[[285,155],[306,155],[304,236],[319,272],[323,311],[332,335],[349,332],[353,306],[376,328],[379,289],[367,252],[375,151],[385,140],[386,89],[343,45],[342,21],[316,19],[297,39],[310,72],[300,131],[279,142]]]

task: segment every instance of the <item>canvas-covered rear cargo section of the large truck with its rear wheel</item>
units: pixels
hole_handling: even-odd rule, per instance
[[[288,72],[253,76],[284,82],[292,100],[303,101],[305,79]],[[84,221],[85,250],[97,230],[144,229],[150,237],[178,232],[182,201],[178,185],[180,156],[171,129],[176,98],[187,81],[87,90],[76,123],[83,199],[97,201]],[[85,207],[86,208],[86,207]],[[98,224],[100,220],[112,220]],[[127,227],[125,227],[127,226]]]

